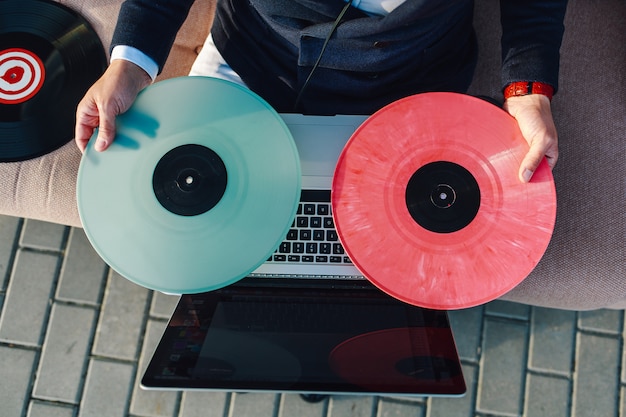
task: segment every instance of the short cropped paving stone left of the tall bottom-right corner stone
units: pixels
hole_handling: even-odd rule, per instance
[[[562,377],[529,374],[526,381],[526,416],[569,417],[571,382]]]

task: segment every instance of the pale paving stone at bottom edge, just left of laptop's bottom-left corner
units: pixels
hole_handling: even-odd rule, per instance
[[[92,359],[78,417],[125,416],[134,374],[132,364]]]

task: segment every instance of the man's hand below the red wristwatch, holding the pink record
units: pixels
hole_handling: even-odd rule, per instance
[[[520,181],[530,181],[544,156],[550,169],[553,169],[559,157],[559,148],[550,99],[541,94],[510,97],[504,102],[504,109],[517,120],[522,135],[530,145],[520,165]]]

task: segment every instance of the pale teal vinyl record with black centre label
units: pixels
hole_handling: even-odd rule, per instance
[[[94,134],[77,202],[96,252],[166,293],[245,277],[285,238],[300,199],[298,150],[282,118],[237,84],[180,77],[142,91],[104,152]]]

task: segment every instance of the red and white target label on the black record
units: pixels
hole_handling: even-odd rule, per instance
[[[39,92],[45,67],[34,53],[20,48],[0,51],[0,103],[18,104]]]

